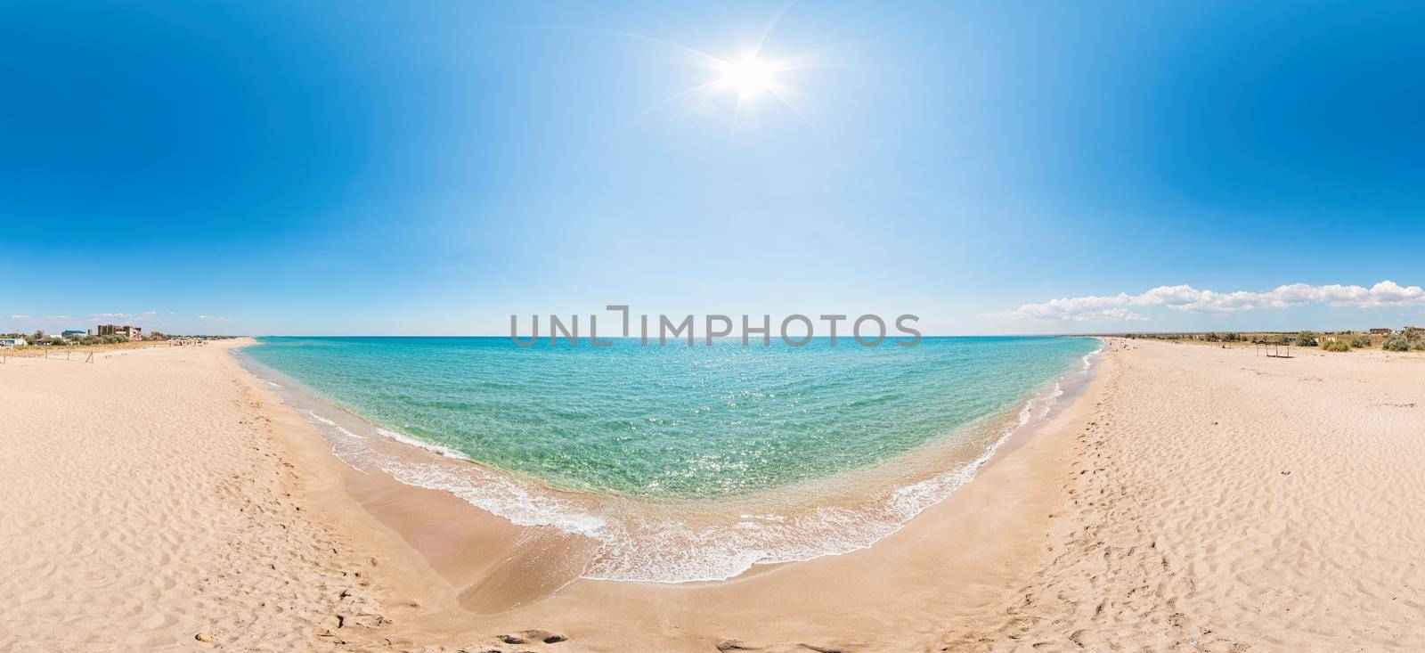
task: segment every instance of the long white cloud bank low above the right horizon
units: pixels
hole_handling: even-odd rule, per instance
[[[1013,311],[980,314],[990,319],[1047,319],[1066,322],[1123,321],[1143,322],[1153,319],[1133,311],[1146,307],[1167,307],[1206,315],[1230,315],[1243,311],[1267,308],[1292,308],[1311,304],[1325,304],[1338,308],[1385,308],[1425,305],[1425,289],[1418,285],[1401,287],[1394,281],[1381,281],[1369,288],[1361,285],[1280,285],[1267,292],[1200,291],[1190,285],[1160,285],[1150,291],[1129,295],[1084,295],[1050,299],[1043,304],[1025,304]]]

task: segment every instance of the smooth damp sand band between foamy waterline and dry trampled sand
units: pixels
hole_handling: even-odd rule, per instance
[[[979,482],[871,549],[758,565],[724,582],[580,579],[593,540],[516,526],[380,472],[338,471],[342,490],[433,572],[423,579],[422,613],[386,632],[398,646],[523,650],[537,642],[512,647],[500,636],[534,629],[569,637],[560,650],[905,650],[1002,602],[1007,579],[1042,557],[1049,506],[1063,498],[1040,479],[1045,469],[1067,465],[1063,438],[1052,433],[1079,419],[1080,392],[1094,391],[1070,388],[1060,413],[1017,431]],[[328,416],[361,428],[355,416]],[[396,446],[432,462],[428,452]],[[882,607],[866,610],[868,602]]]

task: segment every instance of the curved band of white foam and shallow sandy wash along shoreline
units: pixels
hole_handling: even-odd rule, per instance
[[[1076,381],[1070,376],[1084,376],[1100,351],[1077,356],[1079,369],[1046,382],[1027,398],[966,422],[962,435],[928,439],[871,468],[694,502],[556,488],[472,461],[475,456],[455,446],[396,428],[370,425],[349,415],[332,419],[321,409],[304,415],[329,436],[333,453],[356,469],[379,469],[406,485],[449,492],[516,525],[553,526],[591,538],[598,550],[584,577],[660,583],[722,580],[760,563],[809,560],[865,549],[901,530],[908,520],[970,482],[1019,429],[1049,415],[1064,395],[1066,384]],[[761,392],[775,395],[775,391]],[[338,421],[368,435],[358,435]],[[960,442],[959,438],[968,439]],[[942,443],[946,439],[955,446]],[[966,458],[965,451],[972,455]],[[710,469],[708,462],[703,461],[701,469]],[[711,462],[718,465],[720,473],[741,472],[735,465]],[[921,468],[915,468],[916,463]],[[929,463],[943,466],[926,468]],[[902,466],[915,468],[916,473],[882,473]]]

